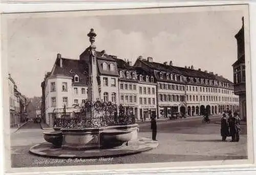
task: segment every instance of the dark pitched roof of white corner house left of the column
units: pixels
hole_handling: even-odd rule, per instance
[[[67,76],[73,78],[76,74],[79,77],[79,82],[76,84],[88,83],[88,69],[89,66],[84,60],[62,59],[62,67],[60,67],[60,59],[56,59],[51,76]]]

